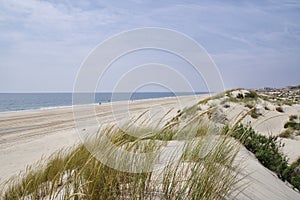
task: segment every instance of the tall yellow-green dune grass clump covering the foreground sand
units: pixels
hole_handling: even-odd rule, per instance
[[[159,124],[165,125],[143,122],[140,126],[128,123],[121,128],[104,127],[85,144],[61,150],[11,178],[3,185],[1,197],[5,200],[224,199],[232,192],[238,173],[233,165],[238,149],[229,136],[216,132],[199,116],[184,124],[162,120]],[[98,161],[95,155],[100,153],[119,165],[127,159],[132,168],[144,166],[139,165],[143,161],[115,154],[111,152],[113,149],[99,152],[103,150],[98,148],[103,135],[109,136],[116,147],[135,154],[160,152],[172,142],[184,145],[178,159],[171,154],[163,167],[133,173]],[[153,157],[144,164],[154,169],[160,159]]]

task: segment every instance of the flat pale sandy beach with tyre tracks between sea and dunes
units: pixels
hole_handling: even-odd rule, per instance
[[[124,117],[128,119],[128,110],[134,116],[145,110],[166,113],[172,109],[170,115],[174,116],[178,109],[191,106],[208,96],[106,103],[96,105],[95,112],[102,125]],[[81,106],[80,109],[85,110],[86,107]],[[83,120],[92,117],[93,114],[86,114]],[[81,142],[75,128],[72,107],[0,113],[0,127],[0,182],[17,175],[42,156],[48,157],[61,148]]]

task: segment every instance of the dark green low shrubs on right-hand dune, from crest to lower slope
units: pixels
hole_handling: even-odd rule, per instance
[[[240,91],[240,92],[239,92]],[[275,94],[274,94],[275,95]],[[262,110],[273,110],[270,107],[275,107],[277,112],[283,113],[284,108],[282,105],[289,105],[289,100],[281,99],[279,102],[272,101],[270,96],[265,96],[263,93],[256,93],[255,91],[243,91],[241,89],[225,92],[222,97],[222,107],[225,108],[227,102],[238,103],[244,105],[249,110],[241,117],[239,123],[245,118],[246,115],[250,115],[253,119],[262,115]],[[259,105],[261,108],[258,109]],[[226,106],[227,107],[227,106]],[[227,107],[228,108],[228,107]],[[300,135],[300,117],[297,115],[291,115],[289,121],[284,124],[285,130],[279,135],[279,137],[294,138],[294,136]],[[227,126],[224,127],[226,133],[228,133]],[[223,131],[224,131],[223,130]],[[299,187],[299,161],[298,164],[293,163],[288,165],[287,157],[282,153],[281,148],[284,144],[278,140],[276,136],[263,136],[256,133],[251,127],[244,127],[239,125],[231,130],[231,135],[238,139],[249,151],[254,153],[258,160],[268,169],[274,171],[278,177],[284,181],[288,181],[293,187],[300,189]],[[295,167],[296,166],[296,167]],[[289,175],[287,175],[289,174]],[[293,180],[293,181],[292,181]]]

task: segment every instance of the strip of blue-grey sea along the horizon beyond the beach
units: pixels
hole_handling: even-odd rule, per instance
[[[196,94],[205,94],[197,92]],[[177,96],[194,95],[176,93]],[[92,103],[174,97],[171,92],[96,93]],[[130,98],[128,98],[130,97]],[[72,106],[72,93],[0,93],[0,112]]]

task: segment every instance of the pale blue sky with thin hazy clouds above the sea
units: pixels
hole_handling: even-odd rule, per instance
[[[0,0],[0,92],[70,92],[99,43],[143,27],[193,38],[215,62],[225,89],[297,85],[299,19],[296,0]],[[121,77],[122,66],[137,58],[140,64],[167,60],[195,90],[206,90],[203,77],[167,53],[137,52],[116,63],[110,75]],[[101,90],[113,89],[112,79],[119,77],[111,77],[99,83]]]

